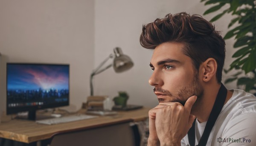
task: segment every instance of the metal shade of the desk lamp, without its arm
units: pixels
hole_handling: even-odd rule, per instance
[[[131,58],[122,53],[122,49],[119,47],[114,48],[115,58],[113,60],[113,68],[115,72],[124,72],[134,65]]]

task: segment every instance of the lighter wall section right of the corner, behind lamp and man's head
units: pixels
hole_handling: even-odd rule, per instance
[[[134,67],[128,72],[116,74],[113,69],[95,76],[95,93],[114,97],[118,91],[127,91],[130,95],[129,104],[154,107],[158,101],[148,78],[151,76],[149,67],[152,50],[143,49],[139,43],[142,25],[164,17],[168,13],[186,11],[190,14],[203,15],[209,6],[200,0],[96,0],[95,1],[95,63],[96,67],[116,46],[122,48],[134,61]],[[218,14],[204,16],[210,20]],[[230,15],[218,20],[218,30],[227,32]],[[233,41],[227,40],[227,60],[225,68],[231,63],[234,50]],[[223,80],[226,78],[225,74]],[[227,85],[228,88],[235,88]]]

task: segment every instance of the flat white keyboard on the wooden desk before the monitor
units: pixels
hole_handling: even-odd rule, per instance
[[[47,125],[54,125],[54,124],[59,124],[59,123],[68,123],[68,122],[73,122],[77,120],[85,120],[85,119],[92,119],[96,118],[99,116],[95,115],[69,115],[65,117],[55,117],[51,119],[46,119],[46,120],[36,120],[36,123],[40,124],[47,124]]]

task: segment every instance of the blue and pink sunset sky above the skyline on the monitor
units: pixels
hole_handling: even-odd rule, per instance
[[[7,64],[7,90],[69,89],[69,66]]]

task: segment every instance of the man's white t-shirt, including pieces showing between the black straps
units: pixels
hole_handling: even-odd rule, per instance
[[[256,97],[234,89],[223,106],[207,141],[207,146],[256,146]],[[195,123],[195,145],[203,135],[207,122]],[[189,146],[188,135],[181,146]]]

